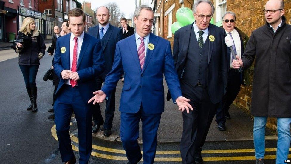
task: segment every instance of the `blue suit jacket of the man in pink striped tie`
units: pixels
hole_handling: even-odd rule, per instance
[[[154,49],[147,49],[146,61],[141,70],[135,35],[117,42],[113,67],[106,76],[102,91],[110,95],[125,72],[120,112],[137,113],[142,104],[145,113],[162,113],[165,106],[164,75],[173,100],[182,96],[170,42],[150,33],[148,43],[153,44]],[[148,48],[148,45],[145,46]]]

